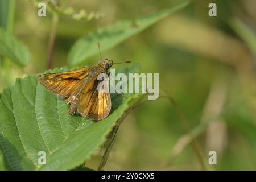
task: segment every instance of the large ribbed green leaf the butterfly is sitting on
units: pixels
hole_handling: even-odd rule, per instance
[[[115,72],[124,70],[138,72],[134,66]],[[69,105],[38,84],[35,76],[16,80],[0,99],[0,148],[7,166],[16,170],[67,170],[81,165],[141,96],[113,94],[110,115],[94,122],[80,114],[69,115]],[[38,164],[39,151],[46,152],[45,165]]]

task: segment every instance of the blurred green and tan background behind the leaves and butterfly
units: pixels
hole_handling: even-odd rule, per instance
[[[26,67],[11,62],[6,66],[1,60],[1,91],[17,77],[47,69],[52,14],[37,16],[35,2],[15,1],[13,34],[28,46],[31,59]],[[97,11],[104,17],[88,21],[60,15],[52,68],[67,66],[69,49],[88,32],[179,2],[67,1],[66,7]],[[210,2],[217,5],[217,17],[208,15]],[[141,65],[141,72],[159,73],[160,87],[170,92],[192,131],[188,134],[177,107],[168,99],[146,102],[123,121],[104,169],[255,170],[255,22],[255,0],[198,0],[102,52],[109,59]],[[99,55],[93,56],[86,65],[99,60]],[[191,138],[196,142],[192,144]],[[212,150],[217,152],[217,165],[208,164]],[[98,150],[86,166],[96,169],[100,160]]]

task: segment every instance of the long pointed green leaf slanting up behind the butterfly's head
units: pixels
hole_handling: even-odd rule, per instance
[[[152,13],[144,18],[123,20],[101,30],[91,32],[77,40],[72,46],[71,51],[68,53],[68,64],[79,65],[89,57],[96,55],[98,53],[97,42],[101,43],[101,51],[117,46],[123,40],[138,34],[171,13],[183,9],[188,4],[189,1],[185,1],[170,9]]]

